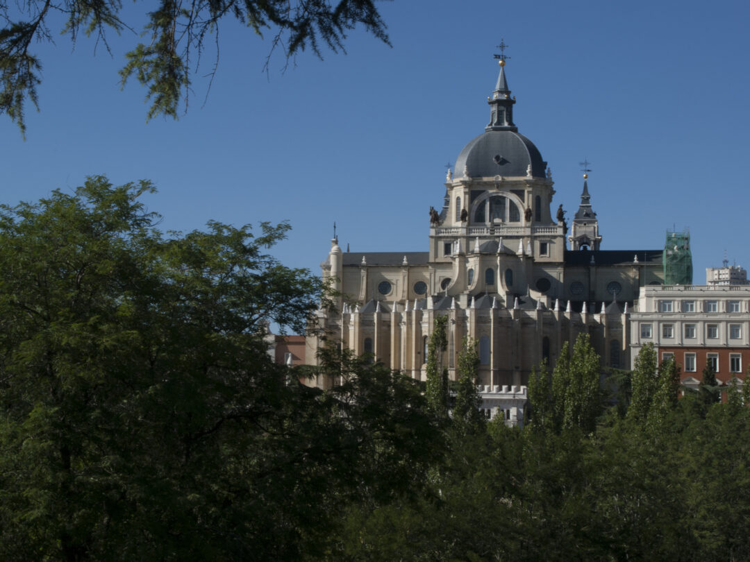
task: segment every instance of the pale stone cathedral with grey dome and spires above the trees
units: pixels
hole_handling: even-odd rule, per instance
[[[590,335],[603,366],[630,367],[628,313],[640,288],[664,282],[663,252],[601,249],[586,174],[569,224],[562,205],[553,211],[550,167],[518,132],[499,59],[489,124],[448,170],[442,208],[425,217],[427,250],[350,253],[331,241],[322,268],[334,303],[317,313],[324,335],[308,337],[309,363],[320,345],[337,342],[425,380],[434,318],[447,315],[451,378],[469,336],[483,398],[494,391],[504,404],[523,402],[532,367],[553,366],[579,333]]]

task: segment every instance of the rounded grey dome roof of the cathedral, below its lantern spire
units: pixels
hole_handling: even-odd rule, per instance
[[[529,164],[532,176],[544,178],[547,163],[533,142],[512,130],[488,130],[460,151],[455,178],[463,177],[464,167],[469,178],[525,176]]]

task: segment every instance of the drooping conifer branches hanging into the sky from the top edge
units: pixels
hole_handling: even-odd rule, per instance
[[[15,11],[11,11],[13,7]],[[31,52],[31,44],[52,42],[51,13],[66,14],[61,31],[70,34],[74,43],[83,31],[106,46],[107,31],[119,33],[131,28],[122,21],[121,8],[119,0],[2,4],[6,23],[0,29],[0,112],[7,113],[22,132],[26,130],[25,101],[28,98],[37,106],[36,87],[41,79],[41,62]],[[177,118],[181,100],[187,109],[190,67],[199,66],[207,40],[211,35],[218,37],[220,24],[227,20],[234,19],[257,35],[271,31],[271,50],[281,46],[287,59],[308,47],[319,57],[323,48],[344,50],[347,33],[356,25],[364,25],[375,37],[389,43],[374,0],[339,0],[335,4],[330,0],[159,0],[146,16],[141,35],[148,40],[127,53],[120,76],[122,85],[135,76],[147,88],[149,119],[157,115]],[[216,68],[214,64],[211,76]]]

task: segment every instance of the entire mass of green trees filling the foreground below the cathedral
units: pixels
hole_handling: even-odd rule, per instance
[[[0,208],[0,559],[750,558],[750,384],[678,399],[644,348],[618,407],[581,336],[507,427],[466,339],[451,417],[438,316],[424,386],[329,340],[307,387],[265,342],[323,291],[267,253],[288,226],[163,235],[152,189]]]

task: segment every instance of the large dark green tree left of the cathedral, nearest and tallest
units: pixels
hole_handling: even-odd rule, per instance
[[[288,226],[164,238],[151,190],[1,208],[0,558],[319,558],[350,504],[419,491],[425,399],[347,354],[299,384],[263,342],[320,295],[264,251]]]

